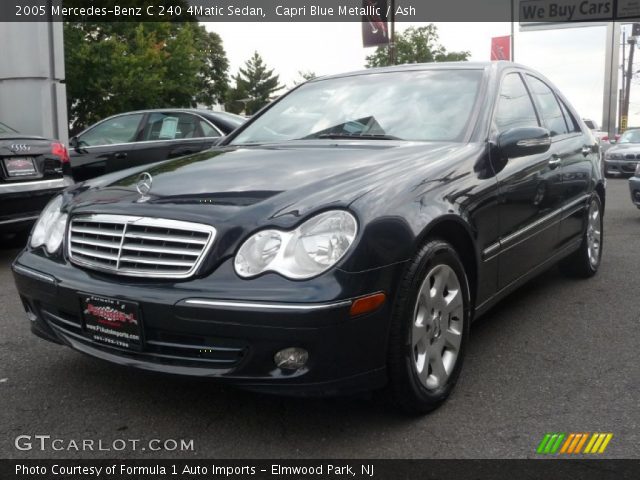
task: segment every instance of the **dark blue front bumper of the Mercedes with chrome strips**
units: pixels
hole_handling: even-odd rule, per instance
[[[335,270],[307,282],[275,274],[247,281],[227,261],[206,278],[174,283],[100,274],[30,251],[13,265],[31,328],[43,338],[119,365],[300,395],[384,385],[390,299],[402,268]],[[387,294],[385,304],[350,317],[354,298],[380,291]],[[137,302],[142,350],[94,342],[83,324],[79,292]],[[288,347],[309,352],[305,367],[275,365],[274,354]]]

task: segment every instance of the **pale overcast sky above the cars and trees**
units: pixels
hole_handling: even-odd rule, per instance
[[[412,25],[421,24],[397,23],[396,30]],[[491,37],[511,31],[508,22],[436,25],[440,43],[448,51],[468,50],[475,61],[489,60]],[[257,51],[289,87],[300,80],[299,71],[325,75],[362,69],[365,57],[374,51],[362,47],[359,23],[216,22],[205,26],[222,37],[232,75]],[[515,61],[549,78],[583,118],[602,123],[605,37],[604,26],[520,32],[516,25]],[[640,125],[640,102],[633,103],[633,88],[631,100],[629,124]]]

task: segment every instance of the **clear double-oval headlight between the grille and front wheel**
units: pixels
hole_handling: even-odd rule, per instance
[[[324,212],[295,230],[262,230],[242,244],[235,258],[243,278],[277,272],[299,280],[334,266],[347,253],[358,231],[353,215],[344,210]]]

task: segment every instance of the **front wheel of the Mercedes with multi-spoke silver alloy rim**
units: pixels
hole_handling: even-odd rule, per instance
[[[469,337],[469,298],[454,248],[442,240],[426,243],[406,269],[389,335],[388,388],[405,412],[428,413],[451,394]]]

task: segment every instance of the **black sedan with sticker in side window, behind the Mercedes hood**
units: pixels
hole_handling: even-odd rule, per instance
[[[211,148],[244,123],[239,115],[164,109],[114,115],[71,138],[76,181]]]

